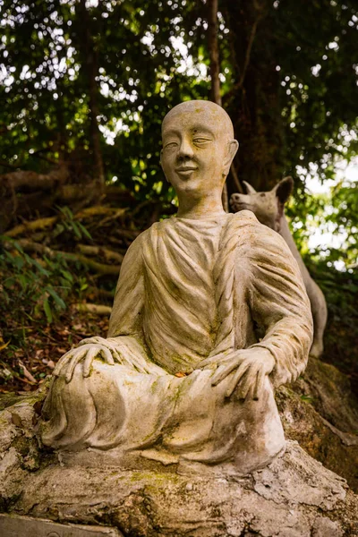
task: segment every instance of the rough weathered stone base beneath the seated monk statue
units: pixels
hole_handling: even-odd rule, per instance
[[[67,524],[43,533],[61,537],[86,535],[68,524],[124,537],[358,536],[358,497],[297,442],[244,477],[182,475],[170,465],[73,465],[38,447],[34,415],[33,402],[0,413],[0,511],[20,524],[9,537],[31,535],[29,524],[50,524],[43,519]]]

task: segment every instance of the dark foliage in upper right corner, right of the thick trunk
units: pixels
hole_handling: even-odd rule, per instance
[[[313,162],[322,179],[332,178],[337,158],[357,154],[357,7],[354,1],[324,0],[305,2],[303,9],[290,1],[274,12],[292,171]]]

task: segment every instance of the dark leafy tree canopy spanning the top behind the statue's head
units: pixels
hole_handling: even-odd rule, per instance
[[[95,102],[107,182],[139,200],[172,200],[159,166],[160,123],[177,102],[209,96],[207,6],[83,5],[0,0],[0,172],[57,164],[71,182],[90,181]],[[326,181],[337,159],[357,154],[357,5],[222,0],[218,21],[223,102],[241,143],[237,172],[260,190],[294,175],[295,216],[304,222],[312,164]],[[356,192],[337,199],[349,194],[354,206]]]

